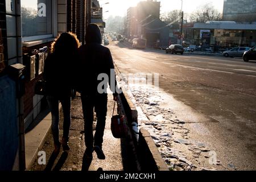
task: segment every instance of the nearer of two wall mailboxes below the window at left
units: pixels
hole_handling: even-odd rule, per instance
[[[30,56],[28,53],[23,55],[23,64],[26,66],[26,80],[28,81],[35,78],[35,61],[35,55]]]

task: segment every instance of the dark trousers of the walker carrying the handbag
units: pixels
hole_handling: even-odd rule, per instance
[[[106,113],[108,105],[108,95],[84,95],[81,94],[82,111],[84,113],[85,146],[89,150],[94,146],[102,147],[103,135],[106,125]],[[95,107],[97,116],[96,132],[93,138],[93,108]]]

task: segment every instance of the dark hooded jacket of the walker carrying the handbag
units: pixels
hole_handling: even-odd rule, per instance
[[[110,70],[114,69],[112,55],[109,48],[101,45],[101,32],[96,24],[89,24],[85,36],[86,44],[79,48],[80,89],[82,94],[98,94],[97,87],[102,80],[98,75],[105,73],[109,77],[109,85],[116,87],[115,75],[111,79]],[[115,89],[112,89],[117,95]]]

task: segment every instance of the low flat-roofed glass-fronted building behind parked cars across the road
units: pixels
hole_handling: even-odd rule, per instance
[[[189,23],[183,26],[184,40],[199,46],[203,32],[209,32],[210,45],[220,47],[256,46],[256,24],[209,21],[207,23]]]

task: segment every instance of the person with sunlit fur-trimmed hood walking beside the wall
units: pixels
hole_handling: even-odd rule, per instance
[[[68,145],[71,125],[71,90],[77,60],[79,40],[71,32],[63,32],[53,43],[51,54],[44,63],[44,80],[47,88],[47,101],[52,115],[52,135],[54,152],[70,150]],[[59,102],[63,108],[63,137],[59,141]]]

